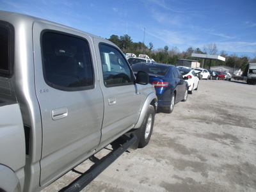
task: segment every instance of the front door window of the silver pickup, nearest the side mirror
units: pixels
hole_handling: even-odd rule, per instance
[[[100,44],[99,49],[105,86],[131,84],[132,72],[124,56],[109,45]]]

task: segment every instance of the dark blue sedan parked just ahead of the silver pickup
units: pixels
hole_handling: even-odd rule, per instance
[[[155,87],[157,103],[166,113],[172,113],[174,105],[188,98],[188,83],[184,81],[179,70],[174,65],[160,63],[136,63],[131,66],[134,74],[147,72],[149,82]],[[187,77],[188,78],[188,77]]]

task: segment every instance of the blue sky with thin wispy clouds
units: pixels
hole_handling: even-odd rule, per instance
[[[0,0],[0,10],[24,13],[93,35],[131,36],[154,49],[180,52],[216,44],[229,55],[256,58],[255,0]],[[145,31],[145,38],[144,38]]]

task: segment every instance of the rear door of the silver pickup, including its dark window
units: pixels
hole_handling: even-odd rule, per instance
[[[35,23],[33,32],[43,133],[40,181],[45,184],[92,155],[104,106],[90,36],[45,23]]]

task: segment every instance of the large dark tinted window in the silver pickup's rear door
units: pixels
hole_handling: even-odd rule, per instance
[[[45,32],[42,51],[44,78],[49,86],[65,91],[93,88],[92,59],[86,40]]]

